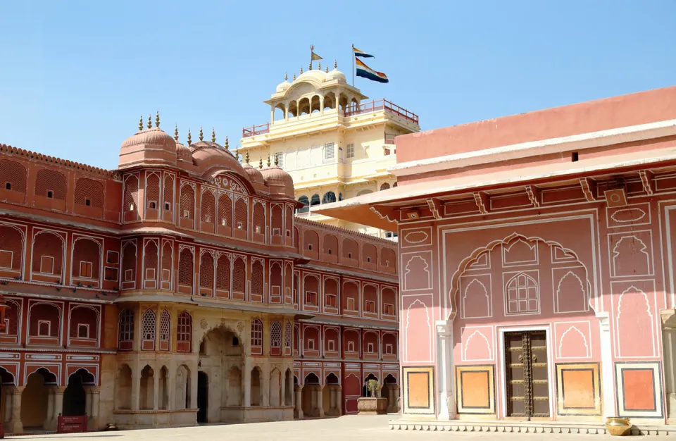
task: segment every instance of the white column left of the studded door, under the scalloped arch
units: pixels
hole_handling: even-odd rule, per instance
[[[456,418],[453,387],[453,321],[437,321],[437,378],[440,420]]]

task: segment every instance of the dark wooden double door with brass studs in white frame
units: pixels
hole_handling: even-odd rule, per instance
[[[506,333],[505,354],[506,416],[549,416],[546,332]]]

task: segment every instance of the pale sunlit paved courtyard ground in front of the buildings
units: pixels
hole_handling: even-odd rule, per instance
[[[323,420],[282,421],[279,423],[232,424],[191,428],[120,430],[118,432],[82,433],[75,435],[35,435],[11,438],[15,440],[58,441],[418,441],[418,440],[598,440],[608,435],[551,435],[539,433],[458,433],[389,430],[387,421],[396,416],[342,416]],[[658,439],[644,436],[641,440]],[[668,438],[659,437],[665,440]]]

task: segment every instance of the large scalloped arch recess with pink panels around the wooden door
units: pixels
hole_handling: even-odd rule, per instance
[[[472,251],[449,280],[449,321],[437,329],[452,360],[440,366],[449,414],[600,413],[596,289],[575,251],[514,233]]]

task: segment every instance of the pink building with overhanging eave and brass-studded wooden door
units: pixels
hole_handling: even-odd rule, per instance
[[[399,228],[403,419],[391,424],[603,433],[621,416],[668,433],[676,87],[396,148],[398,187],[320,209]]]

